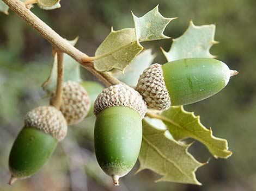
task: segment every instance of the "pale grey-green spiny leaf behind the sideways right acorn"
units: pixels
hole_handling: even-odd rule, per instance
[[[214,35],[214,24],[195,26],[191,21],[185,33],[173,39],[169,52],[163,49],[162,52],[168,62],[184,58],[215,58],[209,52],[211,46],[218,43],[214,40]]]

